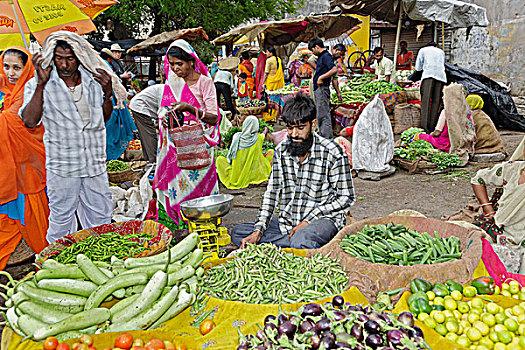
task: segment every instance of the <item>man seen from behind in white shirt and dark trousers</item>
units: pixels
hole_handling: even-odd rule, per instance
[[[443,86],[447,82],[445,74],[445,53],[431,41],[419,50],[416,71],[423,71],[421,77],[421,127],[427,132],[434,131],[439,117],[439,106]]]

